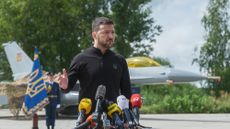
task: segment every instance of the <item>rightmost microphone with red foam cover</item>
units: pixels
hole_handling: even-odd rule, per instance
[[[142,100],[141,100],[140,94],[132,94],[131,104],[132,104],[134,115],[135,115],[137,121],[139,122],[139,118],[140,118],[139,109],[142,106]]]

